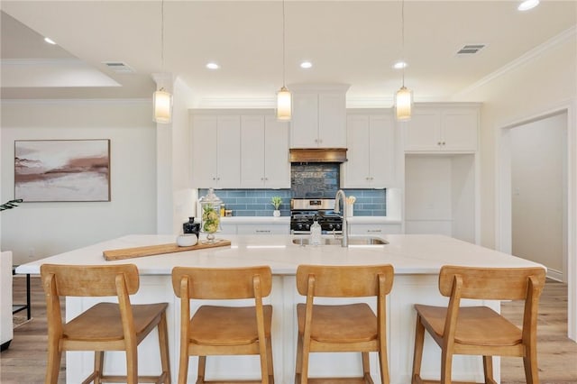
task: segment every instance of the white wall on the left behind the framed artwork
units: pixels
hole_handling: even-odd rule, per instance
[[[2,213],[14,264],[128,233],[155,233],[156,136],[151,101],[2,103],[2,201],[14,198],[14,140],[110,139],[111,201],[27,203]]]

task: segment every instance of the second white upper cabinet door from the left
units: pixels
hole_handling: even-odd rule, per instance
[[[218,176],[216,187],[236,188],[241,185],[241,116],[218,116]],[[204,162],[204,161],[203,161]]]

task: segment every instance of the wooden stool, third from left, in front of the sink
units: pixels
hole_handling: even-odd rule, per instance
[[[362,377],[340,382],[372,383],[369,352],[379,352],[380,380],[389,383],[387,362],[386,296],[393,284],[393,267],[300,265],[298,293],[307,296],[297,305],[298,345],[295,383],[308,382],[310,352],[362,352]],[[315,297],[377,297],[377,314],[364,303],[319,305]],[[313,380],[313,379],[311,379]],[[315,378],[334,382],[337,378]]]

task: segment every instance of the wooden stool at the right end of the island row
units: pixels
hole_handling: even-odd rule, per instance
[[[545,285],[543,268],[465,268],[444,266],[439,290],[450,297],[447,307],[415,305],[417,331],[413,360],[413,384],[451,383],[453,355],[480,355],[486,383],[493,379],[492,356],[523,358],[527,383],[539,382],[536,325],[539,297]],[[462,298],[525,300],[523,325],[510,323],[487,306],[460,306]],[[441,379],[421,378],[425,330],[441,347]]]

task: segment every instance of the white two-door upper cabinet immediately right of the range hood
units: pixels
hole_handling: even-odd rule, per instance
[[[392,114],[347,115],[347,161],[343,187],[391,187],[397,181],[397,146]]]

